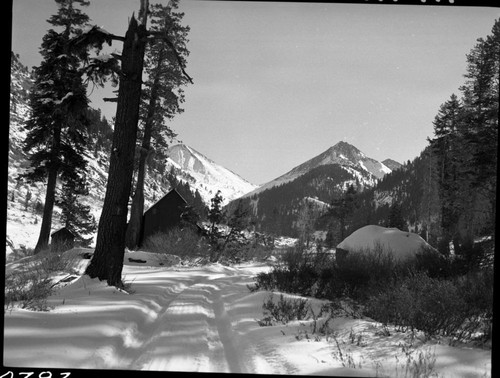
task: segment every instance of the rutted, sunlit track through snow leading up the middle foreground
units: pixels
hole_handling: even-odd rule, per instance
[[[257,373],[265,365],[269,373],[296,372],[272,344],[251,345],[233,331],[224,297],[236,296],[238,284],[247,295],[241,275],[197,278],[163,304],[154,323],[132,330],[148,341],[121,365],[132,370],[227,373]]]

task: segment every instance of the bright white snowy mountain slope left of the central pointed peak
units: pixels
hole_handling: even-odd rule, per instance
[[[185,144],[170,147],[168,156],[168,163],[182,171],[178,172],[178,179],[188,182],[192,190],[198,190],[207,204],[218,190],[225,204],[257,188]]]

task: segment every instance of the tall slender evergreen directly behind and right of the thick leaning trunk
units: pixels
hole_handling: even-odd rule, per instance
[[[189,27],[180,25],[183,14],[172,12],[178,7],[178,0],[172,0],[169,5],[156,4],[151,6],[151,31],[165,34],[168,39],[158,39],[147,46],[145,72],[147,80],[141,96],[142,145],[139,153],[138,175],[135,193],[130,210],[130,222],[127,228],[127,247],[135,249],[140,239],[144,212],[144,181],[146,164],[152,155],[152,141],[156,146],[157,155],[161,157],[162,150],[167,148],[167,139],[175,137],[175,133],[165,124],[175,114],[181,113],[180,103],[184,94],[180,88],[187,84],[177,59],[185,64],[188,55],[186,36]],[[167,43],[168,42],[168,43]],[[175,46],[175,50],[170,44]],[[177,53],[175,53],[175,51]],[[165,157],[165,156],[163,156]]]

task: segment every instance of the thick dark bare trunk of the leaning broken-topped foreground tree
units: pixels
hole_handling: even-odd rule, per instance
[[[106,280],[110,286],[123,286],[121,273],[146,36],[145,23],[139,25],[132,16],[123,45],[122,76],[106,195],[99,220],[94,256],[85,271],[91,278]]]

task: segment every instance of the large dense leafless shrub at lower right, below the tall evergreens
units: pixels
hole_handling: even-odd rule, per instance
[[[489,334],[492,290],[492,273],[488,272],[454,280],[419,272],[368,300],[365,314],[402,331],[420,330],[428,337],[469,340],[477,332]]]

